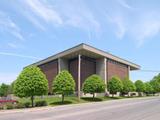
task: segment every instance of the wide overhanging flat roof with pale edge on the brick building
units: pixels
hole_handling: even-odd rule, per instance
[[[67,56],[67,55],[71,55],[73,53],[74,53],[74,55],[78,55],[78,54],[81,54],[81,53],[83,54],[83,53],[87,53],[87,52],[88,52],[89,55],[93,54],[93,55],[98,56],[98,57],[106,57],[108,59],[115,60],[117,62],[126,64],[126,65],[130,66],[131,70],[140,69],[140,66],[135,64],[135,63],[132,63],[132,62],[130,62],[128,60],[122,59],[120,57],[117,57],[117,56],[112,55],[112,54],[110,54],[108,52],[105,52],[103,50],[97,49],[95,47],[92,47],[92,46],[84,44],[84,43],[81,43],[81,44],[79,44],[79,45],[77,45],[75,47],[72,47],[72,48],[67,49],[65,51],[62,51],[60,53],[57,53],[57,54],[55,54],[53,56],[50,56],[50,57],[48,57],[46,59],[43,59],[41,61],[38,61],[36,63],[33,63],[32,65],[39,66],[39,65],[45,64],[47,62],[50,62],[52,60],[55,60],[55,59],[58,59],[58,58],[63,58],[65,56]]]

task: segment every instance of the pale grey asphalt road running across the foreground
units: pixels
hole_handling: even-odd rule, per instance
[[[160,120],[160,98],[0,111],[0,120]]]

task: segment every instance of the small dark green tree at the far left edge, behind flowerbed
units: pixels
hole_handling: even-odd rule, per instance
[[[0,86],[0,96],[6,97],[9,94],[9,85],[2,83]]]

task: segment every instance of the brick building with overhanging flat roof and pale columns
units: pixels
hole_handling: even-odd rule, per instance
[[[112,76],[123,79],[129,77],[131,70],[140,69],[139,65],[83,43],[33,65],[40,67],[46,75],[50,92],[53,78],[61,70],[68,70],[75,79],[79,96],[84,80],[92,74],[100,75],[107,84]]]

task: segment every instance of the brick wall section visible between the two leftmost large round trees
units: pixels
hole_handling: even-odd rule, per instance
[[[58,60],[40,65],[39,68],[46,75],[46,78],[48,79],[49,93],[52,93],[52,82],[58,74]]]

